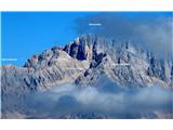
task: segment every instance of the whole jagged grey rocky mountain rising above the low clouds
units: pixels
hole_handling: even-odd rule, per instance
[[[63,48],[53,47],[35,54],[23,67],[1,66],[1,80],[2,112],[6,113],[19,108],[12,99],[25,102],[23,99],[28,93],[48,91],[63,83],[98,88],[144,88],[157,84],[172,89],[173,61],[160,60],[129,41],[83,35]],[[104,84],[104,81],[111,83]],[[102,114],[90,113],[91,117],[94,115],[107,118]],[[78,116],[88,117],[83,114]],[[78,116],[71,114],[62,118]]]

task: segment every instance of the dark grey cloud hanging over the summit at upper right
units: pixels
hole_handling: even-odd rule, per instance
[[[89,23],[102,23],[92,27]],[[172,54],[173,17],[171,13],[98,13],[76,22],[78,34],[97,34],[120,40],[130,40],[154,51],[160,57]]]

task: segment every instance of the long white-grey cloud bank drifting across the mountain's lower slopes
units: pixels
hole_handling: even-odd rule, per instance
[[[34,118],[78,113],[98,113],[108,118],[156,118],[172,115],[172,94],[160,87],[104,92],[101,88],[63,84],[28,96],[26,109]]]

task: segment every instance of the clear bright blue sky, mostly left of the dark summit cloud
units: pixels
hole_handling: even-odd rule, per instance
[[[89,15],[97,13],[98,12],[2,12],[2,57],[17,58],[15,62],[2,62],[2,64],[24,65],[25,61],[34,54],[41,53],[43,50],[53,46],[69,43],[69,41],[74,40],[80,34],[75,28],[77,20],[81,18],[85,21]],[[170,15],[170,13],[119,12],[116,13],[116,15],[135,18],[145,15],[148,18],[165,16]],[[93,17],[95,16],[96,15],[93,15]],[[79,22],[78,27],[82,27],[82,23]],[[124,28],[122,26],[119,29],[123,30]]]

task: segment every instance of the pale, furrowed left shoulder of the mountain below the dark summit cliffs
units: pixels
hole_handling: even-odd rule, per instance
[[[45,52],[49,51],[51,52],[51,50]],[[62,50],[57,50],[56,54],[50,53],[46,56],[42,54],[34,55],[25,67],[1,66],[2,90],[14,87],[31,91],[49,89],[58,83],[71,82],[89,67],[88,62],[72,58]]]

